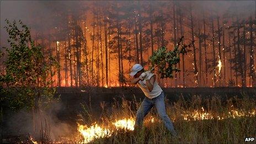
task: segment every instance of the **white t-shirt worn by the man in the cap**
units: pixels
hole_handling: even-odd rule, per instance
[[[150,73],[148,76],[148,79],[150,79],[152,76],[154,76],[154,73]],[[140,87],[141,90],[143,91],[143,93],[146,95],[146,97],[148,97],[150,99],[156,98],[163,92],[162,88],[158,85],[158,83],[156,81],[153,84],[153,89],[151,92],[147,88],[145,79],[143,81],[141,81],[141,80],[138,81],[137,86]]]

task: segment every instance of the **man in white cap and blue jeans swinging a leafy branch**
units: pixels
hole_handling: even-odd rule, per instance
[[[141,126],[143,124],[143,118],[148,114],[148,111],[150,111],[153,106],[156,106],[157,113],[163,120],[166,128],[172,133],[173,136],[177,136],[173,123],[166,114],[164,93],[156,82],[156,75],[150,71],[144,72],[144,68],[140,64],[136,63],[134,66],[132,66],[130,76],[132,76],[131,84],[137,84],[137,86],[140,87],[143,93],[146,95],[140,105],[140,108],[137,110],[135,127]]]

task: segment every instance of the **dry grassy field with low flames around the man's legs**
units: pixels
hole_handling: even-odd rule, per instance
[[[56,127],[56,123],[45,119],[41,121],[39,135],[32,132],[18,138],[4,137],[3,142],[243,143],[246,137],[256,137],[255,95],[241,93],[240,97],[223,98],[216,94],[211,97],[198,94],[191,98],[179,95],[177,100],[166,98],[167,114],[178,132],[177,137],[170,135],[154,108],[146,116],[143,127],[134,130],[136,110],[141,100],[134,95],[129,100],[114,98],[110,104],[102,101],[98,107],[90,107],[86,102],[74,105],[73,109],[79,107],[81,110],[74,116],[75,124],[69,125],[65,135],[53,136],[67,127]],[[70,117],[61,116],[62,120]]]

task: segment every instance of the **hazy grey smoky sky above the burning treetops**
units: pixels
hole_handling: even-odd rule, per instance
[[[132,1],[134,2],[134,1]],[[171,3],[171,1],[140,1],[141,7],[143,4],[153,3]],[[179,1],[181,4],[191,3],[194,10],[210,9],[222,14],[226,10],[231,10],[240,14],[242,17],[249,17],[251,15],[255,18],[255,1]],[[22,20],[31,29],[44,31],[50,29],[51,26],[57,25],[53,15],[58,13],[58,10],[66,11],[79,11],[88,10],[91,8],[92,3],[131,3],[131,1],[1,1],[1,44],[7,46],[7,32],[4,29],[5,19]],[[199,14],[200,12],[198,12]],[[65,17],[63,15],[63,17]]]

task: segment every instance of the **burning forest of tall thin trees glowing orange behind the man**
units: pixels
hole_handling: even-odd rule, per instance
[[[130,86],[133,64],[149,67],[153,51],[172,50],[182,36],[182,44],[194,44],[180,54],[181,71],[173,79],[158,77],[161,86],[255,86],[255,7],[250,4],[84,1],[49,7],[53,22],[39,27],[45,19],[33,19],[31,35],[45,57],[60,63],[54,87]]]

